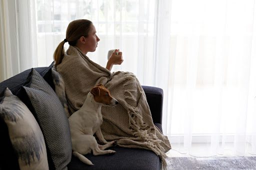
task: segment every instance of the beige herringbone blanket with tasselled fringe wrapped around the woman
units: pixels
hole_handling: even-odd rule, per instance
[[[57,71],[64,80],[72,113],[82,106],[92,87],[103,84],[119,102],[115,107],[102,107],[100,128],[105,140],[117,140],[120,147],[151,150],[165,167],[165,153],[170,150],[170,144],[154,126],[145,93],[135,75],[120,71],[111,73],[73,46],[67,49]]]

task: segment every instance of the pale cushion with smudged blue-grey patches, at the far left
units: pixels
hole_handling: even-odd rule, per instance
[[[0,119],[7,125],[20,170],[47,170],[47,154],[42,132],[32,113],[8,88],[0,101]]]

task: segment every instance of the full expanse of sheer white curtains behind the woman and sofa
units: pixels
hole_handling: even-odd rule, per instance
[[[255,0],[11,1],[19,9],[19,58],[4,55],[9,66],[49,65],[68,23],[89,19],[100,38],[89,58],[105,66],[107,51],[119,48],[124,62],[112,71],[133,72],[142,85],[163,89],[163,132],[174,150],[198,157],[256,154]],[[6,2],[1,35],[11,36]]]

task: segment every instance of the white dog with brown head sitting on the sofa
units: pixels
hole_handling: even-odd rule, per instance
[[[115,141],[107,142],[101,131],[102,124],[101,106],[115,106],[118,101],[111,97],[109,91],[99,84],[93,87],[87,94],[82,107],[74,112],[69,118],[69,127],[72,141],[72,154],[81,162],[87,165],[93,165],[83,155],[92,151],[93,155],[113,154],[115,151],[105,150],[108,147],[116,145]],[[97,144],[93,134],[95,133],[100,143]]]

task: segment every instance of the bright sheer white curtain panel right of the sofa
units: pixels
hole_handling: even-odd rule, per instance
[[[196,157],[256,154],[255,0],[172,0],[168,129]]]

